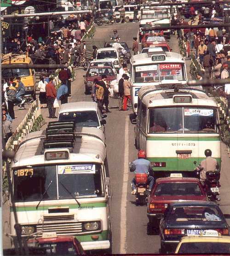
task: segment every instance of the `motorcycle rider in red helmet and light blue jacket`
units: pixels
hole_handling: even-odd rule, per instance
[[[144,150],[138,151],[138,159],[132,161],[129,168],[130,172],[148,174],[149,191],[151,191],[154,184],[153,170],[150,161],[146,159],[146,152]],[[136,194],[136,188],[136,179],[134,177],[132,179],[132,195]]]

